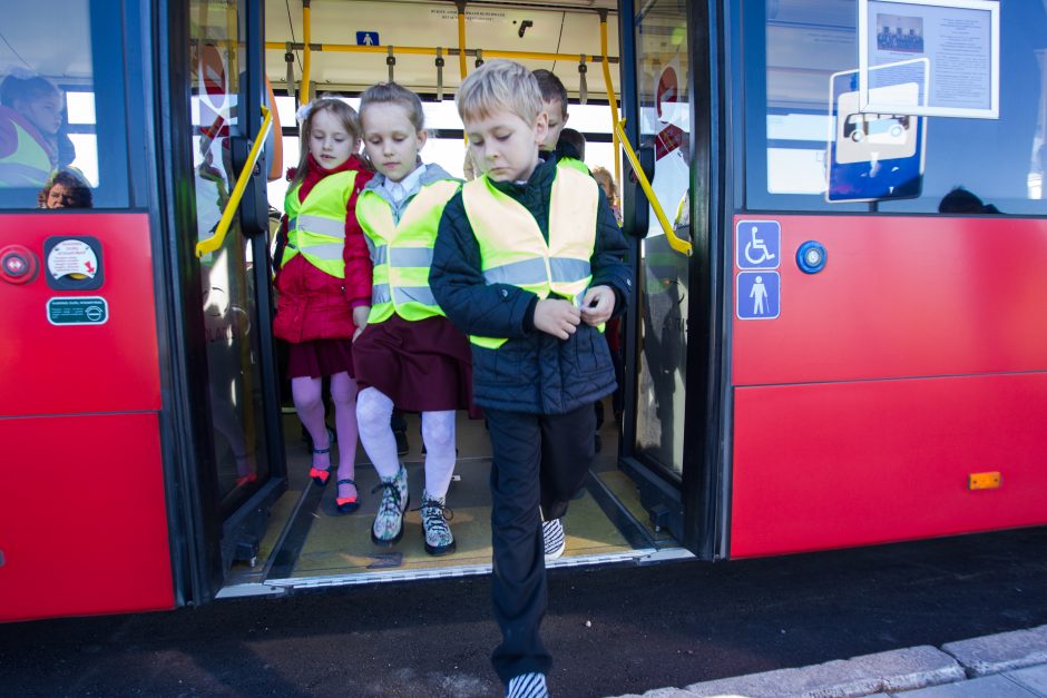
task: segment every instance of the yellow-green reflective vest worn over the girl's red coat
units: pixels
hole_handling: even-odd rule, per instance
[[[317,181],[304,201],[299,201],[302,185],[295,185],[284,199],[287,214],[287,247],[280,266],[302,255],[321,272],[345,278],[345,205],[356,181],[356,170],[327,175]]]

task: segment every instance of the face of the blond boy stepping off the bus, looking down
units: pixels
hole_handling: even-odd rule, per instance
[[[466,136],[477,167],[495,181],[522,181],[538,166],[538,146],[549,130],[548,117],[528,124],[508,109],[466,120]]]

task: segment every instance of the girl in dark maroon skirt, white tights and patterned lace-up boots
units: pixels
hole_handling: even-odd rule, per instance
[[[422,102],[395,82],[360,101],[364,150],[378,174],[356,208],[374,263],[366,331],[353,347],[360,440],[381,478],[382,501],[371,540],[391,545],[403,534],[408,473],[389,424],[393,407],[422,413],[425,486],[420,508],[425,552],[454,551],[447,492],[457,460],[454,412],[471,403],[469,343],[447,321],[429,289],[437,227],[461,187],[439,165],[425,165]]]

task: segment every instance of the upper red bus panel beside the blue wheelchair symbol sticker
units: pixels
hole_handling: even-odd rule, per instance
[[[754,218],[781,223],[781,316],[735,313],[734,385],[1047,370],[1047,220]]]

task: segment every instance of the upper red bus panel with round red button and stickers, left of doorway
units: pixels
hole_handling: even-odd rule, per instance
[[[56,289],[45,242],[89,236],[101,246],[100,288]],[[33,281],[0,281],[0,417],[160,409],[153,255],[145,214],[4,215],[0,249],[28,248]],[[104,298],[102,324],[52,324],[49,302]]]

